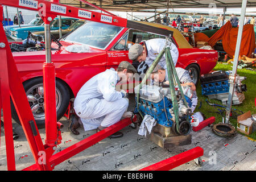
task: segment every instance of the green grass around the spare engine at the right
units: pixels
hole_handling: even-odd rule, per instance
[[[216,65],[216,67],[214,67],[213,70],[214,71],[218,71],[218,70],[222,70],[222,71],[231,70],[232,71],[232,66],[233,66],[233,64],[218,63]],[[246,84],[247,91],[244,92],[245,100],[243,101],[243,103],[240,104],[240,105],[232,105],[232,109],[241,110],[241,111],[243,111],[243,113],[246,113],[247,111],[250,110],[251,114],[255,114],[256,113],[256,107],[255,107],[256,71],[250,71],[250,70],[247,70],[247,69],[243,68],[243,69],[237,69],[237,74],[240,75],[240,76],[245,76],[247,78],[246,80],[242,81],[243,84]],[[214,116],[216,118],[216,121],[214,123],[221,122],[222,121],[222,116],[220,114],[215,113],[215,112],[218,111],[217,109],[225,109],[225,108],[213,107],[213,106],[208,105],[207,102],[205,102],[205,99],[208,99],[208,97],[207,96],[202,96],[201,85],[200,84],[197,85],[196,92],[197,92],[197,97],[198,97],[198,104],[197,104],[197,107],[195,109],[195,112],[200,111],[207,118]],[[208,101],[210,103],[213,103],[213,104],[222,105],[222,102],[218,101],[218,100],[209,100],[208,99]],[[201,108],[199,110],[200,102],[201,102]],[[225,114],[224,114],[224,117],[225,117]],[[234,127],[237,127],[237,119],[233,119],[233,118],[230,117],[230,122],[232,123],[232,125]],[[245,134],[243,134],[243,135],[245,135]],[[250,135],[247,135],[247,137],[253,138],[255,140],[256,139],[256,132],[251,133]]]

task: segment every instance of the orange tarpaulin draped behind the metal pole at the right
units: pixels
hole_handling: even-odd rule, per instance
[[[230,21],[220,28],[213,36],[207,39],[207,35],[196,33],[195,42],[208,42],[209,46],[214,46],[219,40],[222,40],[224,51],[229,57],[233,57],[236,51],[238,27],[232,27]],[[240,55],[250,56],[255,49],[255,34],[252,24],[243,26],[243,34],[241,40]]]

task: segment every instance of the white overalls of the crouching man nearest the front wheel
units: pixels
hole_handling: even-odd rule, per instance
[[[117,72],[107,69],[90,78],[77,93],[74,109],[85,131],[114,125],[127,110],[129,101],[115,90],[118,81]]]

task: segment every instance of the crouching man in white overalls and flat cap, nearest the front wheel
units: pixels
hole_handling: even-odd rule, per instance
[[[117,70],[107,69],[105,72],[90,78],[77,93],[74,109],[77,115],[72,115],[69,129],[78,135],[76,129],[80,125],[84,130],[97,129],[101,131],[112,126],[125,115],[129,100],[125,98],[124,90],[115,90],[117,82],[127,82],[137,70],[128,61],[122,61]],[[109,138],[119,138],[123,134],[114,133]]]

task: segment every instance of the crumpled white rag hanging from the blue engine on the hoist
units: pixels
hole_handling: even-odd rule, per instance
[[[154,117],[152,117],[151,115],[144,115],[144,119],[141,123],[141,126],[139,127],[139,135],[144,135],[144,137],[147,136],[147,131],[150,134],[152,128],[156,125],[156,120]]]

